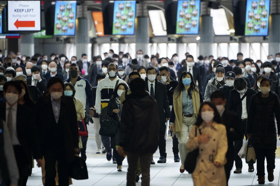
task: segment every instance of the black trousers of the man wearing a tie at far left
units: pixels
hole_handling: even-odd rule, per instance
[[[18,180],[18,186],[25,186],[29,173],[31,173],[31,167],[29,166],[28,158],[25,155],[25,152],[20,145],[14,145],[15,159],[17,161],[17,168],[20,174]]]

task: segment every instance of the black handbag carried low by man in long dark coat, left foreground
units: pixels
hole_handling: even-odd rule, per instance
[[[74,162],[70,163],[69,176],[76,180],[88,179],[88,169],[85,160],[78,155],[75,155]]]

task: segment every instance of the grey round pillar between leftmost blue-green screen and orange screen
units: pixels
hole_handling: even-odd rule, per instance
[[[88,43],[90,41],[88,35],[88,19],[78,18],[78,24],[76,26],[76,56],[79,60],[83,53],[88,55]]]

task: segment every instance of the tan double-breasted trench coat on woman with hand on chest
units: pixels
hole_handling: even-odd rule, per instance
[[[227,132],[223,124],[213,122],[210,128],[199,126],[201,133],[206,133],[211,136],[210,141],[199,144],[197,137],[195,137],[195,130],[197,129],[197,136],[199,130],[197,127],[192,127],[190,131],[189,141],[186,145],[188,151],[193,151],[199,148],[199,156],[194,172],[192,173],[192,180],[195,186],[225,186],[227,180],[225,176],[225,168],[227,160],[225,154],[227,152]],[[220,162],[222,167],[215,167],[213,162]]]

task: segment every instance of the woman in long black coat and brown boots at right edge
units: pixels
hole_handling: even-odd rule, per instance
[[[267,160],[268,181],[274,180],[276,150],[276,127],[280,135],[280,102],[278,96],[270,91],[267,78],[260,82],[260,92],[252,96],[246,126],[247,137],[251,137],[257,158],[258,183],[265,183],[265,158]]]

